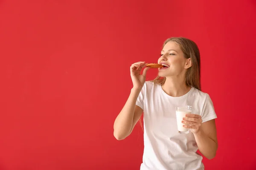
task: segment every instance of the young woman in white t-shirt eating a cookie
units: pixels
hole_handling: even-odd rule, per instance
[[[192,40],[169,38],[163,43],[158,77],[145,82],[145,62],[131,65],[133,88],[114,122],[114,136],[125,139],[144,113],[144,153],[140,170],[204,170],[201,152],[215,157],[218,147],[215,110],[207,93],[201,91],[200,53]],[[144,68],[145,67],[145,68]],[[142,68],[143,74],[140,74]],[[177,130],[175,106],[192,106]]]

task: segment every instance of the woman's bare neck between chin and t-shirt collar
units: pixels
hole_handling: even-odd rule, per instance
[[[185,77],[166,77],[162,88],[166,94],[173,97],[183,96],[191,89],[190,86],[186,85]]]

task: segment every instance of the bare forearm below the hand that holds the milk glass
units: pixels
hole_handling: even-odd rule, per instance
[[[210,139],[202,130],[194,134],[199,151],[207,158],[213,159],[216,155],[218,144]]]

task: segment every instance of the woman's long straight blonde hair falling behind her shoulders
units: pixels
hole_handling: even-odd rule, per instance
[[[192,86],[201,91],[200,52],[198,46],[194,41],[189,40],[187,38],[172,37],[168,38],[167,40],[165,40],[165,42],[163,42],[163,47],[164,45],[166,45],[167,42],[170,41],[175,42],[177,45],[179,45],[186,59],[191,58],[192,66],[188,68],[185,75],[186,85]],[[163,85],[163,83],[166,81],[166,77],[157,76],[155,79],[151,81],[158,85]],[[143,130],[141,119],[139,119],[139,122]]]

